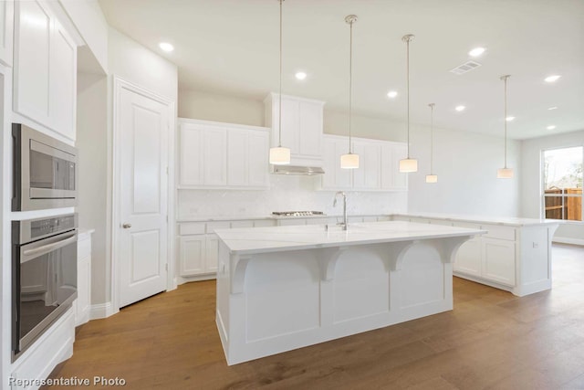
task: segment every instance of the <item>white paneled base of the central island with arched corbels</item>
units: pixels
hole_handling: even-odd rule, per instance
[[[227,363],[452,310],[450,259],[451,253],[423,241],[245,258],[229,254],[222,242],[217,327]],[[243,285],[236,280],[242,269]]]

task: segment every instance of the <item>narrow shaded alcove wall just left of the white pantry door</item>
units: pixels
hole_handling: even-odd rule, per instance
[[[79,227],[94,228],[92,236],[92,302],[109,300],[107,253],[108,214],[108,78],[79,73],[77,80],[77,147],[79,151]]]

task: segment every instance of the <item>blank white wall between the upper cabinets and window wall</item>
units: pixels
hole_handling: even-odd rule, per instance
[[[433,174],[438,183],[426,184],[430,174],[430,129],[412,126],[411,156],[418,172],[410,174],[409,211],[476,216],[520,216],[520,143],[509,141],[507,166],[513,179],[497,179],[504,165],[504,140],[473,132],[434,129]]]

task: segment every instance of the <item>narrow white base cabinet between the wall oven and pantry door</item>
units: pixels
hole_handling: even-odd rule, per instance
[[[77,243],[77,300],[75,300],[75,326],[89,321],[91,308],[91,233],[78,235]]]

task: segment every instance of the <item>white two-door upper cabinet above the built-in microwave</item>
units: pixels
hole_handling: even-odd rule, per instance
[[[15,5],[14,110],[75,140],[77,45],[48,6]]]

